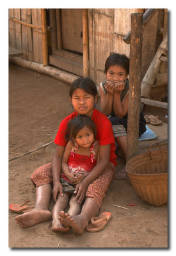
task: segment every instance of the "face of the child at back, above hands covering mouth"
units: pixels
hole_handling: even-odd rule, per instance
[[[116,82],[124,82],[127,78],[127,72],[125,68],[120,67],[119,65],[111,66],[108,68],[108,71],[106,72],[106,78],[109,81]]]

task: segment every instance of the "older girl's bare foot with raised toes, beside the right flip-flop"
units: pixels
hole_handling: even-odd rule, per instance
[[[65,227],[71,227],[74,234],[77,235],[83,234],[84,229],[88,225],[88,221],[84,219],[83,216],[81,216],[81,214],[77,216],[70,216],[68,213],[61,211],[58,219]]]

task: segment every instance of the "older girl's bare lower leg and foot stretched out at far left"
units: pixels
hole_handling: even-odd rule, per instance
[[[51,184],[44,184],[39,187],[36,186],[35,208],[15,217],[15,221],[17,221],[20,227],[32,227],[40,222],[51,219],[52,214],[48,211],[51,191]]]

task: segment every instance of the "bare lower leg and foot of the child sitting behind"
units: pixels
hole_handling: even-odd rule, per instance
[[[127,136],[116,137],[115,140],[116,140],[116,143],[118,144],[118,147],[120,147],[120,149],[122,150],[126,158],[127,157]],[[127,179],[127,172],[125,167],[119,170],[118,172],[116,172],[115,179],[116,180]]]

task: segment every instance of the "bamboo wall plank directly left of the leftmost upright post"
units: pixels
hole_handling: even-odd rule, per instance
[[[32,24],[42,26],[41,9],[31,9]],[[33,61],[43,63],[42,29],[33,28]]]

